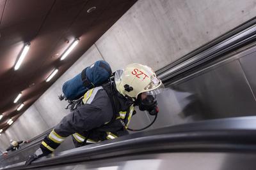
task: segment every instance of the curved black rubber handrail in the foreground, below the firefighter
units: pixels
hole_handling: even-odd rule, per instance
[[[28,167],[20,162],[4,169],[65,166],[95,159],[160,152],[256,153],[256,117],[209,120],[138,132],[42,158]]]

